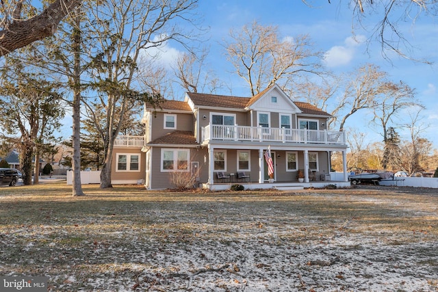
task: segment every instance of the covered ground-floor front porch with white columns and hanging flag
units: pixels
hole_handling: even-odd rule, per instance
[[[269,149],[269,150],[268,150]],[[344,171],[331,177],[331,151],[343,152]],[[273,173],[268,176],[265,153],[270,152]],[[243,185],[245,189],[306,188],[336,185],[348,187],[346,147],[326,147],[318,144],[230,145],[224,142],[208,145],[208,178],[200,181],[204,189],[229,189]],[[246,178],[240,178],[242,172]],[[302,173],[299,177],[298,172]]]

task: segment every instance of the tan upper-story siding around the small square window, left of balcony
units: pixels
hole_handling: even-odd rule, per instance
[[[177,116],[177,129],[164,129],[164,114],[171,114],[166,112],[157,112],[156,116],[151,117],[152,135],[151,141],[172,133],[173,131],[194,131],[194,118],[192,114],[175,114]]]

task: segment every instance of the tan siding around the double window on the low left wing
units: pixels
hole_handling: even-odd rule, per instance
[[[138,163],[139,163],[140,171],[118,172],[116,165],[118,154],[138,155],[139,156]],[[144,172],[146,171],[146,161],[144,158],[144,153],[142,153],[140,149],[136,149],[136,148],[114,148],[111,168],[112,168],[111,179],[114,181],[138,181],[140,179],[144,179]]]

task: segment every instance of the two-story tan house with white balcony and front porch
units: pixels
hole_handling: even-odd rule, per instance
[[[330,155],[340,151],[346,173],[344,132],[326,129],[329,114],[309,103],[292,101],[278,85],[252,98],[187,93],[184,101],[145,107],[144,137],[119,136],[114,146],[113,183],[144,182],[147,189],[174,187],[177,174],[192,174],[195,186],[250,188],[329,183]],[[264,153],[273,160],[268,181]],[[238,174],[246,174],[239,178]],[[220,178],[224,174],[227,178]],[[173,177],[173,178],[172,178]],[[303,183],[299,183],[303,185]]]

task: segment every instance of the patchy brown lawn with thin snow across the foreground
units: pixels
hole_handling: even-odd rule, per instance
[[[438,197],[408,188],[0,194],[0,274],[49,291],[438,291]]]

